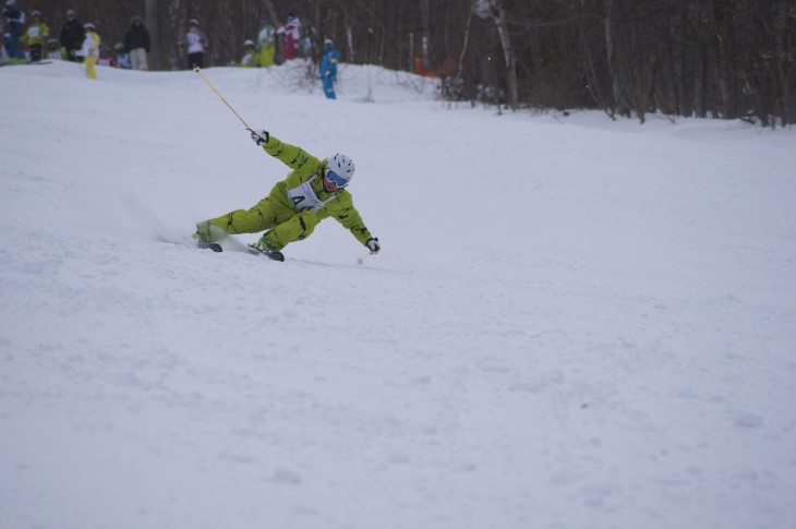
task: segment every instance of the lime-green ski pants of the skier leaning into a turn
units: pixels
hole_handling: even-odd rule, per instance
[[[220,217],[196,225],[196,229],[208,237],[210,242],[227,235],[257,233],[272,229],[266,236],[274,250],[281,250],[291,242],[306,239],[315,230],[318,217],[315,212],[297,212],[286,206],[272,194],[260,201],[251,209],[237,209]]]

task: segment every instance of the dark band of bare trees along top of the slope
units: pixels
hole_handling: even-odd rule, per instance
[[[121,41],[146,17],[156,69],[183,68],[190,19],[209,63],[240,59],[258,21],[292,11],[347,62],[443,77],[444,96],[506,108],[599,108],[796,122],[796,0],[21,0],[53,28],[69,8]],[[318,49],[318,48],[315,48]]]

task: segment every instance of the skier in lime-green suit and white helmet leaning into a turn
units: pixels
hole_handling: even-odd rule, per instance
[[[351,158],[335,154],[322,160],[301,147],[279,141],[267,131],[251,131],[251,135],[257,146],[286,164],[292,172],[251,209],[237,209],[198,223],[192,236],[197,242],[207,244],[230,233],[267,230],[251,248],[281,261],[280,250],[306,239],[321,220],[334,217],[372,254],[378,253],[382,249],[378,239],[365,227],[353,206],[351,193],[345,189],[353,177]]]

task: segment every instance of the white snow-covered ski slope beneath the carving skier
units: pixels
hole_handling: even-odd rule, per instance
[[[0,69],[0,528],[796,527],[796,131],[304,69],[204,73],[363,265],[181,242],[287,173],[195,73]]]

